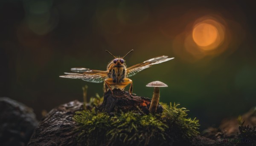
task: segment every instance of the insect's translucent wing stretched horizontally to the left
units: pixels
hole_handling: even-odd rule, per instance
[[[89,69],[87,70],[87,72],[83,73],[65,72],[65,74],[67,75],[62,75],[60,77],[82,79],[87,82],[101,83],[105,80],[105,77],[108,75],[108,71]]]

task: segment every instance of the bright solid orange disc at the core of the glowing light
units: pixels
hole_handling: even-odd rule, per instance
[[[198,46],[209,46],[219,37],[215,26],[208,23],[199,23],[192,32],[192,37]]]

